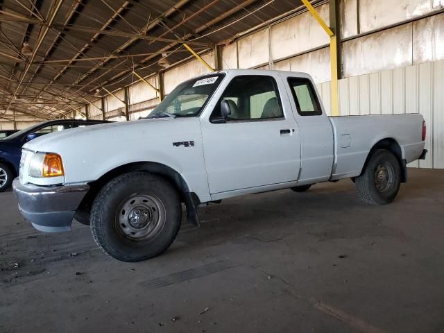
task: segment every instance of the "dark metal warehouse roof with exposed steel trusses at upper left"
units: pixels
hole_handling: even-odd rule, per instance
[[[91,101],[98,87],[133,82],[210,50],[300,0],[4,0],[0,4],[0,118],[49,119]],[[31,54],[22,53],[28,43]]]

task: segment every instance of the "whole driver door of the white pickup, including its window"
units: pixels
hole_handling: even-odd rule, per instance
[[[211,194],[249,189],[298,178],[300,137],[279,76],[235,76],[210,119],[201,119],[203,151]],[[234,112],[221,119],[221,101]]]

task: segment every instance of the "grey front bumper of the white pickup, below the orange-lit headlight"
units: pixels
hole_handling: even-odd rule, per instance
[[[78,206],[89,190],[88,185],[42,187],[12,182],[19,210],[33,227],[42,232],[71,231]]]

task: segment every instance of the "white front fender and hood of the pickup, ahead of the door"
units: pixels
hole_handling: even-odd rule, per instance
[[[201,147],[197,117],[87,126],[44,135],[24,146],[35,152],[59,154],[66,184],[93,181],[135,162],[155,162],[179,173],[187,166],[193,175],[204,169]]]

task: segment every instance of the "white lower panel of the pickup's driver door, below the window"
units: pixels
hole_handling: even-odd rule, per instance
[[[298,178],[300,139],[286,120],[210,124],[203,129],[210,193]],[[290,133],[280,134],[289,129]]]

